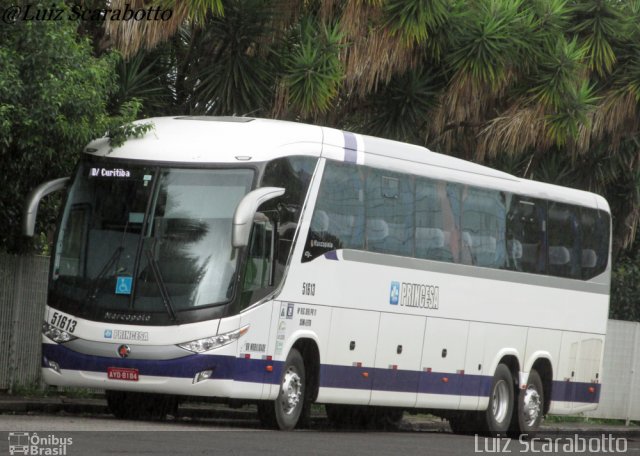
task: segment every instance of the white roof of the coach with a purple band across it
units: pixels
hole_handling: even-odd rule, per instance
[[[250,163],[290,155],[346,162],[389,163],[389,169],[422,174],[425,166],[470,184],[580,204],[609,211],[604,198],[581,190],[521,179],[421,146],[358,135],[327,127],[252,117],[178,116],[143,119],[153,129],[142,138],[111,147],[108,138],[92,141],[85,152],[109,158],[164,163]],[[457,179],[456,179],[457,177]]]

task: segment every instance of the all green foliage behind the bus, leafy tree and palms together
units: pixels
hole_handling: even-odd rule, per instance
[[[68,174],[90,139],[117,147],[153,128],[132,124],[138,113],[304,119],[596,191],[614,255],[640,226],[638,0],[176,5],[178,31],[126,60],[95,24],[0,27],[0,248],[25,248],[25,196]],[[625,258],[615,280],[638,283],[639,258]],[[635,295],[617,293],[620,315],[638,318]]]

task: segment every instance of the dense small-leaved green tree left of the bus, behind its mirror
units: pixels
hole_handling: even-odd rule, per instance
[[[19,233],[27,195],[43,181],[68,175],[82,148],[113,121],[107,103],[117,88],[116,57],[94,57],[77,27],[67,20],[0,27],[3,250],[30,248]],[[54,201],[41,208],[38,231],[48,231],[55,219]]]

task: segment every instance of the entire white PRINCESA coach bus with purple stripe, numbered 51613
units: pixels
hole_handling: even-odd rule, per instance
[[[314,402],[337,424],[427,410],[492,434],[597,407],[602,197],[319,126],[149,121],[90,143],[69,182],[48,384],[105,389],[127,418],[253,402],[280,429]],[[66,181],[32,193],[26,233]]]

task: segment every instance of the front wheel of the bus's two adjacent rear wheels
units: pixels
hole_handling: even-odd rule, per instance
[[[506,436],[511,428],[514,409],[513,377],[504,364],[499,364],[493,376],[489,406],[485,412],[486,432],[491,436]]]

